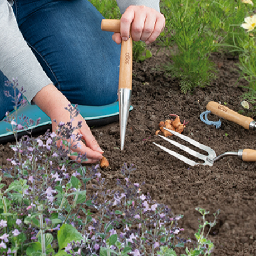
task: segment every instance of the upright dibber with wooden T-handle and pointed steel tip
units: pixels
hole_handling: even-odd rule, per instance
[[[101,29],[110,32],[120,32],[120,21],[117,19],[103,19]],[[124,149],[125,132],[131,105],[132,90],[132,37],[121,43],[120,68],[119,68],[119,125],[121,150]]]

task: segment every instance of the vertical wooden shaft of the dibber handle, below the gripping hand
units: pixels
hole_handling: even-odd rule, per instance
[[[119,68],[119,89],[132,88],[132,37],[122,41],[120,68]]]

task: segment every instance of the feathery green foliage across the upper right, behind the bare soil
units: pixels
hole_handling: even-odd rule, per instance
[[[255,90],[255,38],[241,27],[244,18],[255,12],[252,5],[229,0],[163,0],[161,11],[166,30],[160,45],[170,50],[164,69],[179,78],[181,91],[210,83],[215,67],[209,57],[216,51],[239,55],[241,77]]]

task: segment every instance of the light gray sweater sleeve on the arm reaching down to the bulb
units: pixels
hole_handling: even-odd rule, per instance
[[[24,88],[23,95],[29,102],[52,83],[19,31],[7,0],[0,0],[0,70],[10,81],[18,78],[19,88]]]

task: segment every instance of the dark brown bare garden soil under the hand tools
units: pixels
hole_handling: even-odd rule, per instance
[[[152,50],[154,52],[154,50]],[[220,209],[216,227],[209,239],[214,242],[213,255],[256,255],[256,163],[245,163],[237,157],[225,157],[212,167],[195,167],[183,163],[156,147],[153,142],[166,144],[155,135],[160,121],[177,114],[181,121],[189,121],[183,134],[210,146],[217,155],[239,149],[256,149],[256,131],[249,131],[233,122],[221,119],[219,129],[204,124],[200,114],[206,111],[209,101],[227,104],[234,111],[244,111],[253,117],[253,107],[244,110],[240,96],[245,89],[237,84],[239,74],[236,57],[216,53],[211,57],[216,63],[216,80],[205,88],[195,88],[184,95],[180,92],[179,81],[164,72],[157,71],[156,65],[167,61],[163,52],[155,54],[143,63],[134,63],[132,110],[129,114],[125,148],[120,151],[119,124],[93,127],[95,135],[109,168],[102,169],[109,188],[115,188],[124,163],[134,164],[136,170],[131,180],[143,183],[144,193],[172,209],[175,215],[184,215],[179,227],[184,228],[184,237],[194,239],[198,228],[200,206],[212,214]],[[243,81],[240,81],[241,84]],[[244,82],[245,83],[245,82]],[[217,121],[214,115],[209,120]],[[172,139],[175,139],[172,137]],[[0,145],[0,165],[6,165],[6,158],[12,152],[7,145]]]

